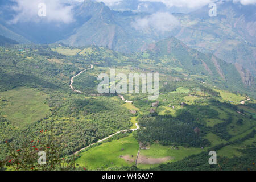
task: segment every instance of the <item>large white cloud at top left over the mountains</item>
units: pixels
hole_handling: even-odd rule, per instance
[[[72,6],[64,5],[60,0],[12,0],[16,5],[12,9],[16,12],[11,23],[18,22],[61,22],[71,23],[73,21]],[[39,17],[38,5],[46,4],[46,16]]]

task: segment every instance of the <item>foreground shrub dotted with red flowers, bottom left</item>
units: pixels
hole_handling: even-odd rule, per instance
[[[5,166],[20,171],[68,171],[75,170],[77,156],[61,157],[64,148],[60,139],[55,138],[51,131],[41,130],[38,138],[27,140],[21,148],[15,148],[6,141],[10,155]],[[45,159],[45,160],[44,160]]]

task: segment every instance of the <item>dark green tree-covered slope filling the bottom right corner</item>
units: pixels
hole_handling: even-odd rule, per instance
[[[256,130],[252,131],[250,134],[243,138],[237,139],[233,142],[228,142],[226,144],[220,144],[209,149],[209,151],[218,151],[221,148],[234,143],[241,143],[247,139],[253,138],[256,134]],[[209,165],[209,155],[208,152],[201,152],[197,155],[191,155],[183,160],[174,163],[161,164],[158,167],[151,168],[152,170],[160,171],[255,171],[255,160],[256,160],[256,146],[255,143],[248,148],[238,149],[242,156],[233,156],[233,158],[227,158],[225,156],[217,155],[217,165]],[[218,153],[218,152],[217,152]]]

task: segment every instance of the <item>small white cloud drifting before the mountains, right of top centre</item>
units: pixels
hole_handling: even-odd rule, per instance
[[[136,30],[147,31],[148,29],[154,28],[154,30],[164,33],[171,31],[173,28],[179,26],[179,24],[179,20],[170,13],[159,12],[144,18],[135,19],[131,23],[131,26]]]

